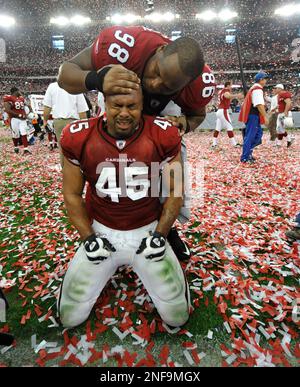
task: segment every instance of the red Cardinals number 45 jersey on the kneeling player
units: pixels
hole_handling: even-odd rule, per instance
[[[86,207],[91,220],[132,230],[159,219],[159,164],[171,161],[181,149],[178,128],[169,121],[144,115],[126,140],[110,136],[102,117],[76,121],[64,128],[61,147],[89,183]]]

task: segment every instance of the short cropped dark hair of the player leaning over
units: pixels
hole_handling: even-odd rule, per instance
[[[202,74],[204,57],[197,40],[188,36],[178,38],[164,47],[163,54],[178,54],[180,69],[188,77],[195,79]]]

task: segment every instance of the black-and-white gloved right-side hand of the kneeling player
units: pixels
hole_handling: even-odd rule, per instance
[[[166,252],[166,238],[155,231],[150,236],[142,239],[137,254],[142,254],[151,261],[160,261],[164,258]]]

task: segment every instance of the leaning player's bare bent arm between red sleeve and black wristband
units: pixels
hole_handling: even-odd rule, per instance
[[[59,69],[58,84],[70,94],[85,93],[85,78],[89,71],[82,70],[78,65],[64,62]]]

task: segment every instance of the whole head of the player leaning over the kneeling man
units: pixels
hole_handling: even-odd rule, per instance
[[[142,84],[151,94],[172,95],[202,74],[203,52],[189,37],[176,39],[157,49],[147,62]]]

